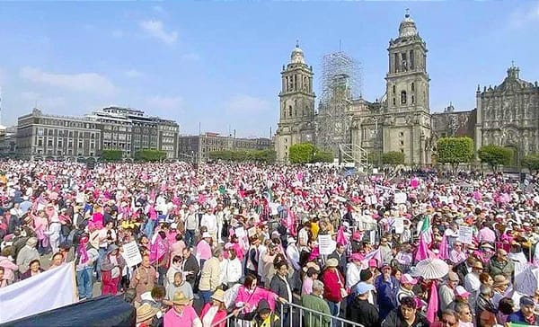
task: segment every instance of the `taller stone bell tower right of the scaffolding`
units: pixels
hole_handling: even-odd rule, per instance
[[[427,44],[406,10],[399,37],[389,41],[385,75],[384,152],[404,154],[407,164],[430,163]]]

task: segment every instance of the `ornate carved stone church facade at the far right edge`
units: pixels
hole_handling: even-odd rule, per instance
[[[539,151],[539,86],[519,77],[516,66],[498,86],[478,86],[475,147],[496,145],[513,150],[517,165],[524,155]]]

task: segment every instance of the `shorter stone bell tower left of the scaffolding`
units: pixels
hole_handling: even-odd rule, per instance
[[[304,52],[296,43],[290,63],[281,71],[279,119],[275,139],[277,160],[287,163],[288,149],[297,143],[314,144],[313,66],[305,64]]]

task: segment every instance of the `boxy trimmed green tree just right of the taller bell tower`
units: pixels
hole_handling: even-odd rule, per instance
[[[442,137],[437,140],[437,162],[450,163],[454,169],[459,163],[473,159],[473,140],[470,137]]]

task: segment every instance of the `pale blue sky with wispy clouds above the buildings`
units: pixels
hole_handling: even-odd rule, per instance
[[[384,94],[387,46],[409,7],[429,48],[430,109],[475,106],[514,60],[539,79],[539,2],[0,3],[2,124],[31,111],[83,115],[107,105],[175,119],[184,134],[275,131],[280,69],[300,40],[314,66],[342,49],[363,94]]]

